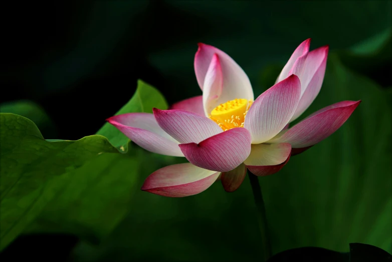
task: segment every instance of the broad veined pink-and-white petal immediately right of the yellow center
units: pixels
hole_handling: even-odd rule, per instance
[[[287,125],[297,108],[300,95],[300,81],[297,76],[291,75],[255,100],[244,122],[244,127],[251,133],[252,144],[270,140]]]

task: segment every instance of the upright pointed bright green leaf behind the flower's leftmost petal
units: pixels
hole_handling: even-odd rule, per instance
[[[167,109],[166,100],[158,90],[143,81],[138,80],[135,94],[115,115],[132,112],[152,113],[153,107]],[[124,145],[126,145],[129,139],[113,125],[105,123],[105,125],[98,130],[97,134],[106,136],[114,146],[120,149],[120,152],[127,151],[127,148],[124,147]]]

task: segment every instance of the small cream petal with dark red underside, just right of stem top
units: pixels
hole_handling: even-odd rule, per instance
[[[271,175],[282,169],[290,154],[291,145],[288,143],[252,145],[252,152],[244,164],[257,176]]]

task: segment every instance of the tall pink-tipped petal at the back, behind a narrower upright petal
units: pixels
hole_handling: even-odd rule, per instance
[[[253,101],[252,85],[244,70],[225,52],[202,43],[199,43],[198,52],[194,56],[194,72],[200,88],[204,89],[205,78],[214,54],[218,55],[223,75],[223,92],[219,98],[219,103],[225,103],[236,98]]]

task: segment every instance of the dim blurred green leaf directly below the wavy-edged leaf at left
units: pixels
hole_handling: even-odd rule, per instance
[[[25,233],[73,233],[98,243],[128,212],[139,180],[138,150],[101,154],[48,182],[63,185]]]

